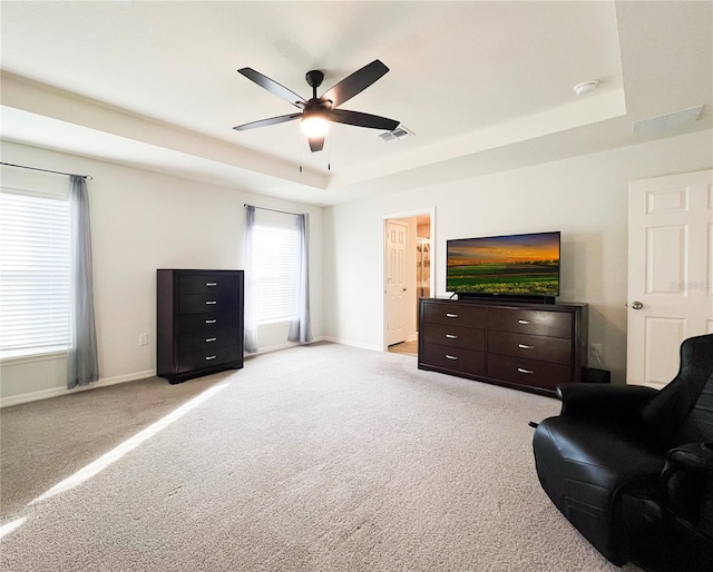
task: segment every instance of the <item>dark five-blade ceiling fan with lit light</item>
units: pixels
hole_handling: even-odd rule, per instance
[[[393,131],[400,122],[387,117],[362,114],[360,111],[335,109],[344,101],[367,89],[389,71],[389,68],[387,68],[380,60],[374,60],[360,70],[354,71],[354,73],[344,78],[319,98],[316,97],[316,88],[322,85],[324,73],[320,70],[307,71],[305,79],[312,88],[312,98],[310,100],[305,100],[301,96],[252,68],[242,68],[237,71],[251,81],[257,83],[261,88],[264,88],[272,95],[284,99],[287,103],[300,108],[302,111],[238,125],[233,128],[236,131],[244,131],[246,129],[255,129],[256,127],[266,127],[268,125],[284,124],[285,121],[300,119],[302,122],[302,132],[307,136],[310,149],[314,152],[321,151],[324,147],[324,137],[329,129],[329,121],[354,125],[356,127],[368,127],[371,129],[384,129],[387,131]]]

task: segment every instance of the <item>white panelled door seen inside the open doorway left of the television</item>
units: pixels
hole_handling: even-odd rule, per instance
[[[399,220],[387,220],[385,314],[387,345],[406,342],[407,284],[406,248],[409,227]]]

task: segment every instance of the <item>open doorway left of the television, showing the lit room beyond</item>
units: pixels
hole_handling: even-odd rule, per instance
[[[384,351],[418,353],[418,304],[433,285],[432,223],[432,208],[383,217]]]

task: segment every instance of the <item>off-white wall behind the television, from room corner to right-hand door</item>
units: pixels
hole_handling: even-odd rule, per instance
[[[325,335],[380,348],[381,217],[434,207],[434,296],[446,295],[448,238],[560,230],[559,300],[589,304],[589,342],[603,344],[603,367],[623,383],[628,181],[711,168],[712,151],[711,131],[700,131],[330,207],[324,218],[325,236],[333,237],[324,252]]]

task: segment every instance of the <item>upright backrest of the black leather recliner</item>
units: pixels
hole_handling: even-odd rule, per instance
[[[681,344],[681,366],[674,379],[643,406],[646,432],[663,446],[676,443],[676,435],[713,374],[713,334],[695,336]]]

